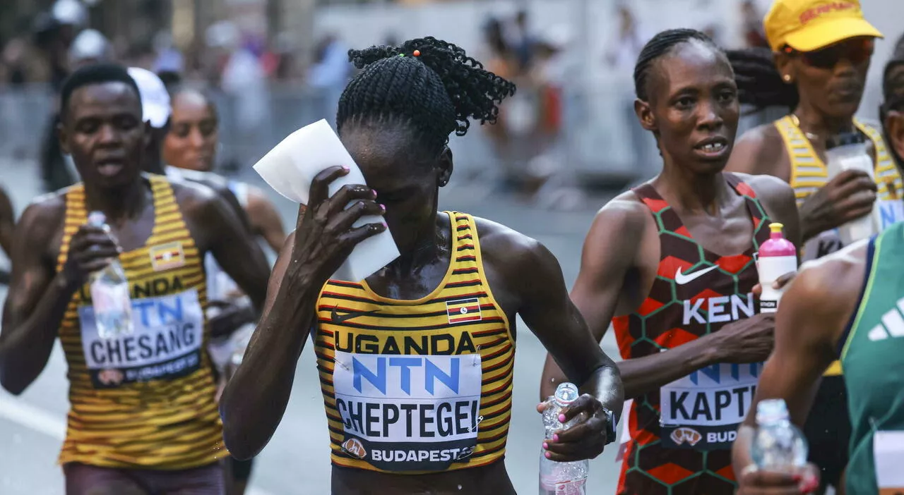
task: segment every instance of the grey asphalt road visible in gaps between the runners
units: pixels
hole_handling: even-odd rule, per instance
[[[243,173],[241,178],[259,182],[253,171]],[[12,193],[19,212],[39,192],[33,163],[0,159],[0,183]],[[273,196],[286,225],[294,225],[296,208],[276,193]],[[441,193],[440,206],[494,219],[539,239],[559,258],[570,285],[578,273],[584,234],[594,211],[606,200],[607,197],[593,198],[576,211],[541,210],[494,192],[488,186],[461,183],[453,178]],[[5,262],[0,259],[0,266]],[[5,288],[0,288],[0,299],[4,297]],[[519,329],[512,425],[505,462],[518,492],[531,494],[537,490],[542,424],[534,406],[545,350],[523,324]],[[603,342],[603,349],[617,357],[615,342],[609,336]],[[69,406],[65,372],[66,363],[58,345],[41,377],[21,397],[0,390],[0,494],[63,493],[56,457]],[[615,492],[618,474],[615,451],[614,445],[610,445],[606,453],[591,462],[589,493]],[[329,493],[329,472],[326,421],[314,353],[306,349],[298,364],[286,416],[273,440],[259,455],[252,492],[258,495]]]

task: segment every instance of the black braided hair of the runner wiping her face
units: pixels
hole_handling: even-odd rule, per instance
[[[453,131],[465,135],[471,118],[494,124],[498,104],[515,90],[461,48],[433,37],[348,54],[363,70],[339,98],[339,131],[350,122],[400,123],[431,152],[441,152]]]

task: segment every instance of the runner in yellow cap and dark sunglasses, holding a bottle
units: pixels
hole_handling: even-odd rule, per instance
[[[776,0],[764,24],[772,52],[732,56],[741,101],[755,107],[785,105],[791,113],[744,135],[728,170],[770,174],[791,184],[805,241],[802,257],[815,259],[842,248],[836,228],[873,208],[880,209],[881,229],[904,219],[904,184],[880,126],[853,117],[874,40],[881,34],[863,18],[857,0]],[[867,138],[873,180],[855,172],[830,180],[826,140],[845,132]],[[810,458],[823,470],[821,491],[839,485],[847,462],[851,426],[841,372],[838,362],[826,371],[815,399],[819,413],[805,428]]]

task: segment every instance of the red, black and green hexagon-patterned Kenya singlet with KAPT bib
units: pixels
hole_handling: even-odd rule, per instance
[[[758,283],[754,255],[769,238],[769,220],[746,183],[724,177],[744,196],[754,225],[750,248],[736,256],[703,248],[652,185],[635,190],[653,212],[661,254],[644,304],[612,322],[623,359],[673,349],[758,313],[750,292]],[[634,399],[618,493],[734,493],[731,444],[762,366],[715,364]]]

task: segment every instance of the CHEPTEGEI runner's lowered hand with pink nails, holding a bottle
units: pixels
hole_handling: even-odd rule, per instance
[[[544,404],[537,406],[541,413],[544,408]],[[559,420],[564,424],[575,416],[581,416],[583,420],[568,430],[556,432],[551,439],[543,442],[547,459],[556,462],[582,461],[593,459],[603,452],[603,447],[608,443],[608,420],[603,404],[597,397],[584,394],[570,406],[562,408]]]

